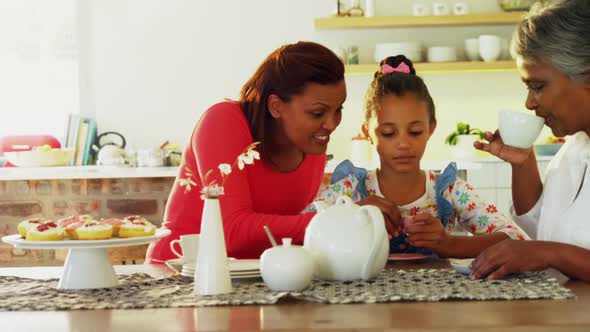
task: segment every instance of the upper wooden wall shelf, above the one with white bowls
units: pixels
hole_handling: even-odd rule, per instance
[[[524,12],[442,16],[327,17],[315,19],[316,29],[404,28],[432,26],[502,25],[520,22]]]

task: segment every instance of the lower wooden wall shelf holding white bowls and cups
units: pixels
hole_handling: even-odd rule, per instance
[[[346,65],[346,75],[373,75],[378,64]],[[516,71],[516,62],[512,60],[483,62],[421,62],[415,63],[414,68],[418,75],[438,73],[481,73],[481,72],[507,72]]]

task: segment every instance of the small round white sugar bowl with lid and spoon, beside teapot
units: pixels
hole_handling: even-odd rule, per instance
[[[283,245],[266,249],[260,256],[262,279],[273,291],[300,291],[311,283],[315,262],[302,246],[291,245],[283,238]]]

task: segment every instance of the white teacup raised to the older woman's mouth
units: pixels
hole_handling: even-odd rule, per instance
[[[500,111],[498,129],[504,144],[521,149],[533,145],[545,120],[532,113]]]

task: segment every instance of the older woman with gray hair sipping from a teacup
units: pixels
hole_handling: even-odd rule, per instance
[[[541,182],[532,148],[504,145],[496,131],[476,143],[512,166],[512,214],[535,241],[502,241],[472,263],[473,278],[555,268],[590,281],[590,1],[538,5],[520,22],[512,53],[526,107],[555,136],[571,135]]]

